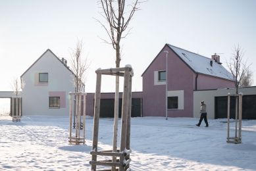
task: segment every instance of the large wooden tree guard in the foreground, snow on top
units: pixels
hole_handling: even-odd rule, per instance
[[[119,170],[119,171],[130,170],[129,168],[129,165],[131,162],[130,153],[132,153],[132,150],[130,149],[130,116],[131,116],[131,103],[132,103],[132,76],[134,75],[132,66],[126,65],[124,68],[110,68],[105,70],[101,70],[101,68],[99,68],[95,72],[97,74],[97,80],[96,80],[94,118],[93,118],[93,144],[92,144],[92,150],[90,151],[91,170],[96,171],[96,166],[111,166],[112,170]],[[124,91],[122,93],[122,118],[121,118],[122,122],[121,122],[121,135],[120,135],[120,150],[115,150],[115,147],[113,145],[112,150],[97,151],[102,74],[112,75],[112,76],[124,76]],[[112,160],[97,161],[97,155],[109,156],[109,157],[112,157]],[[116,157],[119,157],[119,159],[116,160]]]

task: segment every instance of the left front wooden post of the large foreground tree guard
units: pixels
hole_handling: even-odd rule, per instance
[[[93,118],[93,143],[91,147],[92,151],[97,151],[97,147],[98,147],[100,103],[101,103],[101,74],[97,74],[94,118]],[[91,160],[97,161],[97,155],[91,155]],[[91,170],[96,171],[96,165],[91,164]]]

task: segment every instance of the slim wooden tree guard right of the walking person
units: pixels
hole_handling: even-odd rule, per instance
[[[236,132],[235,132],[235,137],[230,137],[230,96],[235,96],[236,97]],[[239,97],[239,126],[237,127],[237,122],[238,122],[238,97]],[[228,137],[226,139],[228,139],[226,142],[227,143],[242,143],[242,135],[241,135],[241,131],[242,131],[242,97],[243,94],[239,93],[238,95],[230,95],[230,93],[228,93]],[[237,129],[238,128],[238,129]],[[238,136],[237,136],[237,130],[238,130]]]

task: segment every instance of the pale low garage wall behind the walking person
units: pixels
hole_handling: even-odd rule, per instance
[[[243,95],[256,95],[256,87],[242,87],[238,89]],[[207,105],[207,118],[215,119],[215,97],[236,94],[236,89],[215,89],[193,91],[193,117],[200,117],[200,101],[205,101]]]

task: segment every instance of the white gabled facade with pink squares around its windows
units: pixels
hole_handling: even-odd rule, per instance
[[[47,82],[39,82],[42,73],[48,76]],[[68,116],[68,93],[75,91],[71,76],[67,66],[47,49],[21,76],[26,82],[22,89],[22,115]],[[59,107],[50,107],[49,97],[59,97]]]

